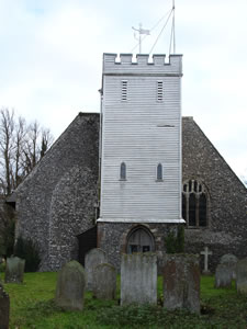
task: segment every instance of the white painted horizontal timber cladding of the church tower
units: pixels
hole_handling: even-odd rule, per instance
[[[181,219],[181,55],[104,54],[100,220]],[[122,81],[127,100],[122,101]],[[157,101],[157,81],[164,100]],[[126,181],[120,180],[121,162]],[[162,181],[156,181],[162,164]]]

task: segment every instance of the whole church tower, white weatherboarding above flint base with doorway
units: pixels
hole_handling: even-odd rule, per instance
[[[166,251],[181,218],[182,56],[104,54],[98,247],[120,265],[122,252]]]

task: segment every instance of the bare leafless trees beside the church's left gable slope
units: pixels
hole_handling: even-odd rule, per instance
[[[0,194],[9,195],[29,174],[53,143],[49,129],[30,125],[14,111],[0,110]]]

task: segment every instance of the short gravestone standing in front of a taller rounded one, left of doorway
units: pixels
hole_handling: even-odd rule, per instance
[[[114,299],[116,291],[116,270],[112,264],[102,263],[93,269],[92,294],[100,299]]]

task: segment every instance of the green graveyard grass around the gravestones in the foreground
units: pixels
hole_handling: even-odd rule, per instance
[[[54,304],[56,280],[57,273],[25,273],[23,284],[4,284],[11,300],[10,329],[247,328],[247,296],[237,295],[234,285],[215,290],[213,276],[201,277],[201,316],[165,310],[161,277],[156,307],[120,307],[117,300],[98,300],[87,293],[83,311],[64,311]]]

